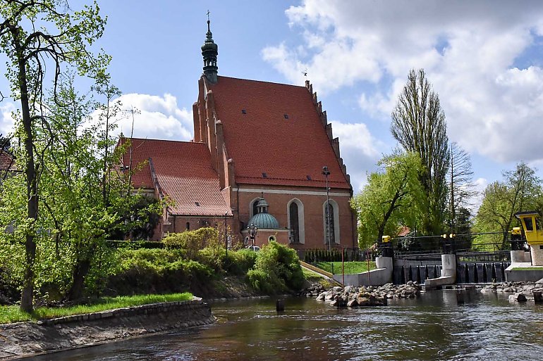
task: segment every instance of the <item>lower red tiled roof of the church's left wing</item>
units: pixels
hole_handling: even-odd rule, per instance
[[[206,144],[133,138],[131,148],[133,167],[141,167],[132,177],[133,185],[154,189],[152,162],[161,194],[174,202],[169,207],[170,214],[232,215],[222,196],[219,175],[212,168]],[[123,156],[123,165],[126,167],[129,163],[130,148]]]

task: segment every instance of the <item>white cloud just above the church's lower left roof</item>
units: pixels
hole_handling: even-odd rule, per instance
[[[181,141],[193,138],[192,110],[179,108],[176,97],[171,94],[124,94],[118,101],[121,109],[126,111],[116,117],[116,134],[123,132],[126,137],[130,137],[133,122],[135,138]],[[133,108],[136,110],[134,118],[130,112]],[[96,115],[97,113],[94,114]]]

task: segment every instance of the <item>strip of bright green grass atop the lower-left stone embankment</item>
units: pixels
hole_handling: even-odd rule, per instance
[[[71,315],[82,315],[130,306],[147,305],[149,303],[190,300],[191,293],[170,293],[166,295],[137,295],[104,297],[90,305],[76,305],[67,308],[36,308],[32,314],[23,312],[18,306],[0,306],[0,324],[12,322],[34,321],[37,319],[56,318]]]

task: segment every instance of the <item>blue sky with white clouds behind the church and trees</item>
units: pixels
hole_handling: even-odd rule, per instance
[[[479,189],[520,161],[543,177],[543,1],[98,2],[108,23],[97,45],[113,57],[123,107],[140,110],[134,137],[192,139],[209,10],[219,75],[312,82],[355,192],[397,146],[391,112],[418,68],[439,94],[449,140],[470,154]],[[1,133],[17,107],[0,103]],[[128,134],[131,122],[119,120],[119,130]]]

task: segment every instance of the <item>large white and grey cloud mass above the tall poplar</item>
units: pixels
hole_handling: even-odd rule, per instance
[[[305,0],[286,15],[303,44],[262,55],[292,82],[307,67],[321,94],[354,87],[383,120],[410,68],[425,68],[452,141],[502,163],[543,159],[543,70],[516,67],[540,42],[543,2]]]

